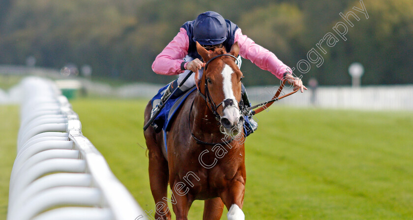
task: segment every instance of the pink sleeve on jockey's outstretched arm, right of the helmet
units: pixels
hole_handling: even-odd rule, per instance
[[[241,57],[250,60],[261,69],[270,71],[278,79],[282,79],[285,72],[291,72],[291,69],[278,60],[273,53],[256,44],[252,39],[247,37],[247,35],[243,35],[241,29],[235,32],[235,42],[236,41],[238,41],[239,55],[241,55]]]

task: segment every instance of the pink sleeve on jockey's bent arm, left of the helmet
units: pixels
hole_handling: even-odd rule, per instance
[[[180,65],[188,54],[189,39],[186,30],[181,28],[174,39],[163,49],[152,63],[152,70],[161,75],[177,75],[183,71]]]

